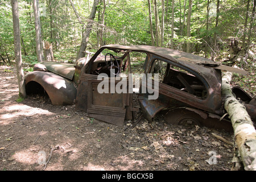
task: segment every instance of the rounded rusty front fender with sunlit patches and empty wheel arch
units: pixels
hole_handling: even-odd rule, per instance
[[[73,81],[51,72],[34,71],[25,77],[26,92],[33,90],[31,84],[37,82],[46,90],[53,105],[73,105],[77,89]]]

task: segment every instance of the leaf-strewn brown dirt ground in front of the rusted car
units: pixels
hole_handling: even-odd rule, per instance
[[[161,119],[126,121],[123,127],[86,117],[75,106],[48,98],[17,102],[14,67],[0,67],[1,171],[229,171],[233,134],[207,127],[188,129]]]

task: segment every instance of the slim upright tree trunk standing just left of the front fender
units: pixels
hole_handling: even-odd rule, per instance
[[[19,97],[26,98],[24,72],[22,69],[22,54],[20,49],[18,0],[11,0],[11,9],[13,11],[14,53],[15,53],[16,71],[17,71],[17,77],[18,77]]]

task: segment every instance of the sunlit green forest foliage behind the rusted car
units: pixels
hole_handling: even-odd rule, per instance
[[[86,24],[93,5],[93,0],[72,2],[81,21],[69,0],[39,0],[43,42],[47,40],[53,44],[54,57],[60,61],[75,59],[82,40],[83,23]],[[86,49],[95,52],[106,44],[152,45],[148,2],[151,3],[153,34],[156,38],[158,30],[163,32],[163,47],[189,50],[215,60],[229,58],[232,39],[238,41],[241,49],[256,44],[255,0],[100,0]],[[190,18],[189,2],[192,2]],[[0,1],[0,12],[0,60],[11,63],[14,40],[9,0]],[[32,0],[19,1],[19,19],[22,59],[35,63]]]

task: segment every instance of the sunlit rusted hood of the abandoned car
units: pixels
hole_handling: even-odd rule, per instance
[[[75,74],[75,64],[68,63],[59,63],[59,62],[42,62],[46,66],[47,71],[55,73],[57,75],[68,78],[69,80],[73,79]]]

